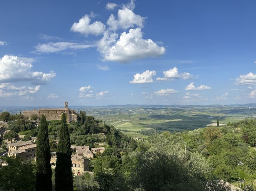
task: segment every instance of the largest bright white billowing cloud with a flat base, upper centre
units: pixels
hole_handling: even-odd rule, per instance
[[[116,33],[104,33],[98,50],[106,61],[128,62],[145,57],[159,57],[165,53],[165,48],[158,46],[151,39],[143,39],[140,28],[123,32],[118,41]],[[116,43],[115,43],[116,42]],[[110,45],[115,43],[114,45]]]

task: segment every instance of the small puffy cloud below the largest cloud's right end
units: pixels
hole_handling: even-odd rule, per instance
[[[130,81],[130,83],[133,83],[133,84],[152,83],[154,81],[152,77],[154,77],[155,75],[156,75],[156,71],[146,70],[141,74],[140,73],[135,74],[134,79]]]

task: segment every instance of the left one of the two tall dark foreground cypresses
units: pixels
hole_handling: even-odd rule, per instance
[[[36,191],[52,191],[51,152],[48,137],[48,124],[43,115],[40,120],[36,144]]]

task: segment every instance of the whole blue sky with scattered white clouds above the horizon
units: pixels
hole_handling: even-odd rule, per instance
[[[0,105],[256,98],[256,2],[0,2]]]

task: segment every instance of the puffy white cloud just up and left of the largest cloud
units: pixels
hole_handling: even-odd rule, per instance
[[[100,21],[95,21],[94,23],[90,24],[91,19],[89,15],[85,15],[80,18],[78,23],[74,23],[71,27],[71,31],[79,32],[84,35],[100,35],[105,31],[105,25]]]

